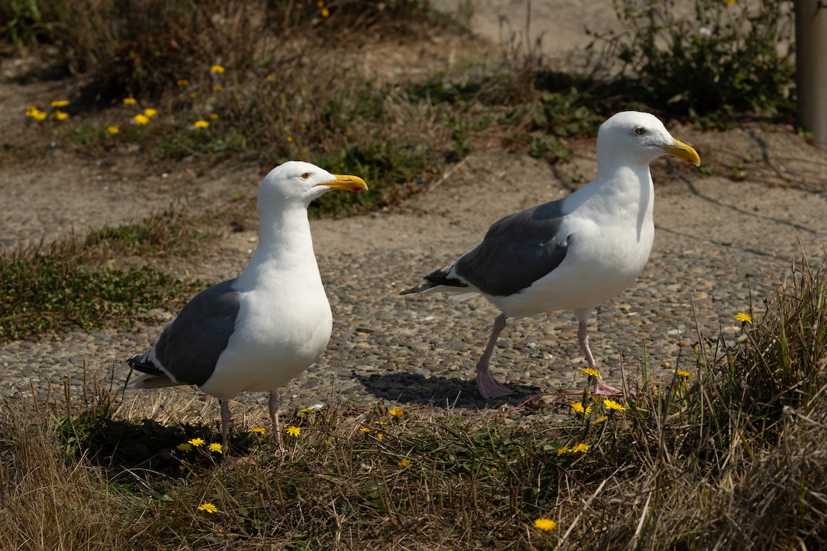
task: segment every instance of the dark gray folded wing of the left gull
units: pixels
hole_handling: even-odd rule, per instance
[[[169,374],[182,384],[201,386],[207,382],[236,326],[241,293],[233,289],[234,282],[231,279],[213,285],[187,302],[155,343],[158,366],[133,366],[151,374],[156,374],[151,367],[155,371],[160,367],[165,373],[158,374]]]

